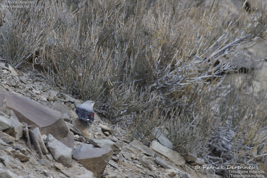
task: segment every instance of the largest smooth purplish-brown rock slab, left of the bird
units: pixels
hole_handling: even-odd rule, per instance
[[[57,140],[73,149],[74,135],[70,133],[59,111],[10,92],[0,93],[0,108],[13,110],[20,122],[33,128],[38,127],[42,135],[54,135]]]

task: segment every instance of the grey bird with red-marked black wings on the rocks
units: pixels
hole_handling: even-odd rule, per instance
[[[92,124],[94,119],[95,119],[95,113],[93,110],[93,106],[96,102],[89,100],[89,101],[85,101],[83,104],[79,105],[75,112],[77,114],[77,116],[83,120],[86,121],[86,123],[90,123]]]

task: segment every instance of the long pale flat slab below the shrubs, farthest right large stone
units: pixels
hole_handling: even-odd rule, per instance
[[[152,141],[151,149],[167,157],[169,160],[174,162],[176,165],[184,165],[185,163],[185,160],[180,153],[168,147],[163,146],[162,144],[160,144],[159,142],[155,140]]]

